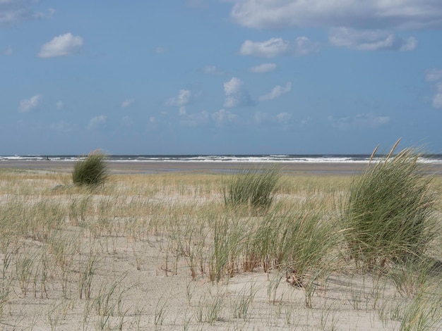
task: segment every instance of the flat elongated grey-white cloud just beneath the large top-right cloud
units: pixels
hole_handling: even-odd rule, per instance
[[[328,39],[334,46],[345,46],[360,51],[412,51],[417,46],[417,39],[402,39],[383,30],[354,30],[350,27],[337,27],[330,30]]]

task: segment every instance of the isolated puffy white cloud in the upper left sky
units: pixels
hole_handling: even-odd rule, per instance
[[[83,38],[71,33],[54,37],[50,42],[42,45],[38,56],[52,58],[54,56],[68,56],[78,54],[83,47]]]

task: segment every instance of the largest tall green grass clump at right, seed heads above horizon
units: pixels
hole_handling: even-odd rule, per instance
[[[412,149],[393,156],[398,142],[388,156],[354,177],[345,201],[348,248],[357,265],[368,270],[421,258],[437,235],[431,176]]]

